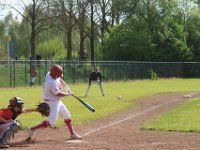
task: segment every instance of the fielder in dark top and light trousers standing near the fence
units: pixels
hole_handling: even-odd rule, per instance
[[[99,88],[101,90],[101,94],[102,96],[105,96],[102,85],[101,85],[101,72],[99,71],[99,67],[95,68],[95,71],[92,71],[89,77],[89,84],[88,84],[88,88],[87,91],[85,93],[85,96],[88,96],[90,87],[92,85],[92,83],[96,82],[99,85]]]

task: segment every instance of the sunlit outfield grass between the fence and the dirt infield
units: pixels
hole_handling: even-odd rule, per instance
[[[97,85],[92,85],[91,91],[87,98],[83,97],[87,89],[87,84],[69,85],[72,91],[79,97],[91,104],[96,112],[92,113],[84,108],[73,97],[63,98],[63,102],[72,114],[75,124],[81,124],[87,121],[95,120],[111,113],[121,111],[130,107],[134,107],[134,100],[146,97],[155,93],[162,92],[184,92],[199,91],[199,79],[162,79],[157,81],[139,80],[128,82],[109,82],[103,83],[106,96],[102,97]],[[35,107],[42,101],[42,86],[26,87],[26,88],[2,88],[0,90],[1,106],[6,107],[8,100],[12,96],[18,96],[24,99],[25,107]],[[117,96],[122,96],[121,100]],[[183,116],[184,117],[184,116]],[[199,117],[196,116],[197,118]],[[180,116],[179,116],[180,118]],[[22,114],[18,117],[23,127],[35,125],[46,118],[41,117],[38,113]],[[57,126],[63,125],[61,119],[58,120]],[[162,126],[162,125],[161,125]],[[153,127],[151,126],[151,129]]]

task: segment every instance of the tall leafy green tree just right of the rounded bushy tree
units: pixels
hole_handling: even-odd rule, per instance
[[[151,60],[187,61],[191,52],[187,46],[185,24],[177,19],[180,11],[175,0],[143,0],[139,18],[147,24],[151,41],[155,44]]]

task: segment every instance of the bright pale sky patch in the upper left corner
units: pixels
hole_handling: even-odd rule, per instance
[[[23,3],[27,4],[30,0],[0,0],[0,20],[8,14],[9,11],[12,12],[13,17],[21,19],[21,16],[12,7],[23,12]]]

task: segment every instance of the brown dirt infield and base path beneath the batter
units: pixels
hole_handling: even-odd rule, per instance
[[[190,95],[183,97],[183,95]],[[34,143],[24,141],[20,131],[11,141],[11,150],[198,150],[199,133],[144,131],[140,127],[152,117],[166,112],[200,93],[165,93],[138,99],[138,106],[111,116],[76,126],[83,140],[68,140],[62,128],[44,129]],[[16,138],[17,137],[17,138]]]

